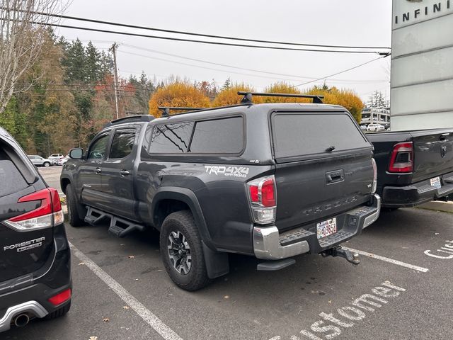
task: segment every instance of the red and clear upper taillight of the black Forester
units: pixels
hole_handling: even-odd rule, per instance
[[[18,231],[44,229],[64,222],[62,205],[59,202],[58,191],[45,188],[30,195],[19,198],[18,203],[40,200],[38,208],[25,212],[4,221],[6,225]]]

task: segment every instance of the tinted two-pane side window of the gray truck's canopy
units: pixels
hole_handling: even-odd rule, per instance
[[[150,154],[237,154],[243,149],[243,118],[156,125]]]

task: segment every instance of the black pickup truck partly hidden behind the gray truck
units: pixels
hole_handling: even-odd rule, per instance
[[[453,128],[368,133],[382,206],[413,207],[453,193]]]

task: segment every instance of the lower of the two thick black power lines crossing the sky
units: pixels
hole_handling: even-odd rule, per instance
[[[222,46],[235,46],[235,47],[250,47],[250,48],[259,48],[265,50],[285,50],[285,51],[303,51],[303,52],[331,52],[331,53],[381,53],[377,51],[355,51],[355,50],[316,50],[310,48],[290,48],[290,47],[276,47],[276,46],[263,46],[263,45],[246,45],[246,44],[235,44],[231,42],[218,42],[218,41],[207,41],[207,40],[195,40],[195,39],[184,39],[184,38],[171,38],[171,37],[162,37],[159,35],[147,35],[147,34],[140,34],[140,33],[130,33],[130,32],[120,32],[116,30],[102,30],[101,28],[88,28],[88,27],[81,27],[81,26],[70,26],[70,25],[63,25],[61,23],[42,23],[39,21],[29,21],[29,23],[33,23],[35,25],[43,25],[43,26],[52,26],[52,27],[59,27],[59,28],[71,28],[74,30],[88,30],[91,32],[101,32],[101,33],[111,33],[111,34],[119,34],[119,35],[128,35],[132,37],[141,37],[141,38],[151,38],[151,39],[162,39],[162,40],[173,40],[173,41],[181,41],[181,42],[198,42],[201,44],[207,45],[222,45]]]

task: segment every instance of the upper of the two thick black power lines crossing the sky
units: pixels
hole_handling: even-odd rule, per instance
[[[316,44],[308,44],[308,43],[301,43],[301,42],[285,42],[285,41],[275,41],[275,40],[259,40],[259,39],[250,39],[250,38],[237,38],[237,37],[229,37],[225,35],[211,35],[205,33],[193,33],[187,32],[182,30],[166,30],[163,28],[151,28],[147,26],[137,26],[137,25],[130,25],[127,23],[115,23],[112,21],[101,21],[89,18],[79,18],[76,16],[63,16],[59,14],[50,14],[44,12],[38,12],[38,14],[45,15],[45,16],[52,16],[57,18],[75,20],[75,21],[85,21],[88,23],[101,23],[103,25],[110,25],[110,26],[120,26],[125,28],[138,28],[140,30],[154,30],[156,32],[165,32],[165,33],[176,33],[182,35],[193,35],[198,37],[205,37],[205,38],[217,38],[217,39],[225,39],[225,40],[239,40],[239,41],[248,41],[248,42],[263,42],[266,44],[275,44],[275,45],[294,45],[294,46],[306,46],[306,47],[332,47],[332,48],[355,48],[361,50],[389,50],[390,47],[372,47],[372,46],[345,46],[345,45],[316,45]]]

